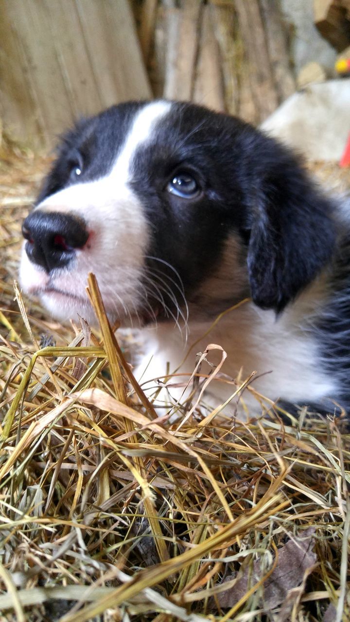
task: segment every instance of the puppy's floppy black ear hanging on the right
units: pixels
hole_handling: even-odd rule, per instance
[[[280,312],[329,261],[336,233],[331,201],[293,156],[275,148],[251,197],[248,273],[255,304]]]

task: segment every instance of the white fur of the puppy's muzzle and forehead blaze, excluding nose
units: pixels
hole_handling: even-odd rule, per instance
[[[156,124],[170,108],[168,102],[146,104],[136,114],[108,175],[91,182],[75,183],[37,206],[40,211],[83,216],[89,233],[85,247],[77,249],[73,264],[54,270],[50,276],[34,266],[24,249],[22,251],[22,288],[29,294],[39,294],[54,317],[67,320],[76,318],[79,313],[88,321],[94,321],[85,294],[88,272],[94,272],[111,318],[122,318],[125,322],[129,317],[131,323],[134,322],[140,299],[146,296],[140,277],[149,232],[143,207],[128,182],[138,147],[151,140]],[[58,292],[45,293],[47,287]]]

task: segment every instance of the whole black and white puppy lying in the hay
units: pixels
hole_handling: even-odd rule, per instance
[[[232,378],[256,370],[264,396],[334,412],[350,407],[349,231],[344,207],[248,124],[187,103],[125,103],[64,136],[24,221],[21,284],[54,317],[93,322],[93,271],[111,320],[158,324],[148,378],[184,358],[176,323],[191,344],[250,297],[196,351],[218,343]],[[233,390],[210,384],[219,402]]]

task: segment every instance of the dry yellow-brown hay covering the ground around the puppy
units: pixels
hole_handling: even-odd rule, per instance
[[[3,155],[1,622],[349,620],[341,420],[283,424],[270,408],[245,424],[202,406],[177,429],[158,416],[93,278],[92,333],[14,291],[46,163]]]

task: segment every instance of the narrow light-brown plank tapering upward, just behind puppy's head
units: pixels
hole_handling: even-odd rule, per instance
[[[212,26],[210,6],[204,6],[192,99],[197,104],[224,112],[224,88],[220,65],[219,46]]]

